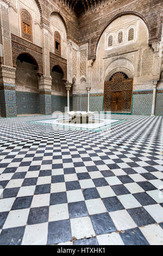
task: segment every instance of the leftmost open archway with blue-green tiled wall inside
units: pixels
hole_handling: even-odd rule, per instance
[[[39,114],[40,98],[37,63],[29,54],[22,53],[16,60],[17,114]]]

